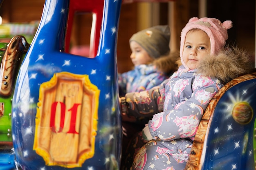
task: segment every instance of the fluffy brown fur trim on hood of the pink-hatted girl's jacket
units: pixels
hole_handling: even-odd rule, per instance
[[[249,54],[237,47],[229,47],[214,57],[205,57],[198,67],[198,73],[204,76],[215,77],[222,84],[253,71],[253,64]]]

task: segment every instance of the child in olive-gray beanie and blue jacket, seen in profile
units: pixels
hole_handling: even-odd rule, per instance
[[[134,69],[119,74],[120,96],[157,86],[177,70],[175,60],[179,58],[179,54],[170,54],[168,25],[157,25],[139,31],[132,35],[129,42]]]

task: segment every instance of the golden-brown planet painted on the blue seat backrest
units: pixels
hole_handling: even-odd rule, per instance
[[[239,102],[232,110],[232,117],[239,124],[248,124],[253,117],[252,107],[247,102]]]

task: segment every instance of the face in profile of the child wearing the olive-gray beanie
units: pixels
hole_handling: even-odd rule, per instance
[[[132,51],[130,58],[135,66],[153,62],[154,59],[137,42],[131,41],[130,49]]]

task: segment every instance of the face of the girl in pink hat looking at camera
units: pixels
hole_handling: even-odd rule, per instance
[[[186,34],[183,61],[190,70],[198,67],[198,63],[211,53],[210,38],[200,29],[193,29]]]

